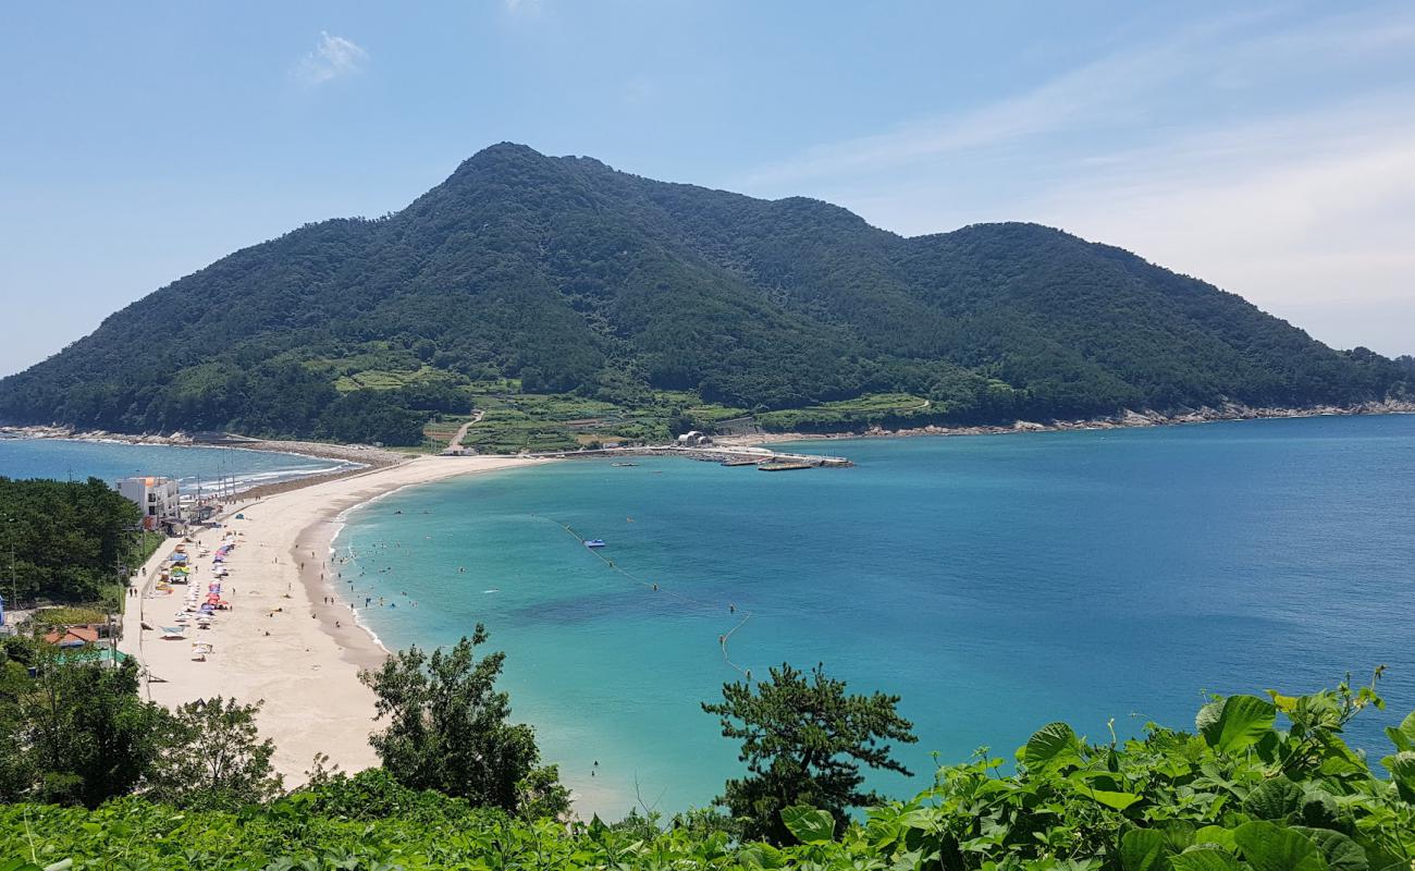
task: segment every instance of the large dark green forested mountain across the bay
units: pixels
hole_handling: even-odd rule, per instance
[[[303,227],[127,306],[0,381],[0,419],[406,442],[497,380],[756,411],[904,392],[957,422],[1412,389],[1409,365],[1057,229],[903,238],[498,144],[396,214]]]

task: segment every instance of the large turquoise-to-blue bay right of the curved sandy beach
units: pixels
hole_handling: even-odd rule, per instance
[[[606,817],[705,804],[739,770],[699,702],[739,677],[717,639],[744,615],[730,654],[756,676],[819,661],[903,697],[920,776],[873,782],[894,795],[932,751],[1010,756],[1051,719],[1190,728],[1203,690],[1388,664],[1390,711],[1351,735],[1377,753],[1415,708],[1415,416],[802,449],[859,466],[569,462],[405,490],[351,516],[344,582],[389,647],[485,622],[516,717]]]

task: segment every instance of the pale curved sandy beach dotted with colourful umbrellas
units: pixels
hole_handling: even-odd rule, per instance
[[[226,558],[222,598],[211,629],[188,629],[184,640],[163,640],[174,626],[184,588],[160,595],[153,582],[160,562],[175,548],[164,544],[143,568],[142,596],[130,599],[120,649],[139,659],[149,680],[143,693],[173,707],[224,695],[243,702],[265,700],[259,725],[276,745],[275,766],[286,786],[304,780],[316,753],[355,772],[376,765],[368,745],[374,729],[374,694],[359,683],[361,668],[376,667],[386,651],[357,627],[348,603],[330,579],[330,541],[338,516],[392,490],[457,474],[539,465],[507,456],[423,456],[396,466],[313,483],[308,487],[238,503],[225,528],[204,530],[188,544],[192,585],[202,593],[212,578],[212,558],[228,533],[236,547]],[[242,520],[235,520],[236,514]],[[303,565],[301,565],[303,564]],[[337,603],[324,603],[334,596]],[[142,629],[142,623],[151,630]],[[338,626],[335,626],[338,623]],[[192,642],[214,646],[205,661],[192,660]]]

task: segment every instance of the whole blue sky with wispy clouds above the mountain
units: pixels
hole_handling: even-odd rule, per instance
[[[904,235],[1037,221],[1415,353],[1408,0],[54,0],[0,25],[0,374],[502,140]]]

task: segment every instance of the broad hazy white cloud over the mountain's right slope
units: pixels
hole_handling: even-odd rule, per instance
[[[1387,10],[1248,30],[1101,58],[739,183],[819,195],[906,234],[1061,227],[1240,293],[1332,344],[1415,351],[1415,64],[1399,61],[1415,57],[1415,20]],[[1293,78],[1380,57],[1402,71],[1374,76],[1380,89],[1323,92]],[[1231,105],[1215,93],[1249,88]]]

